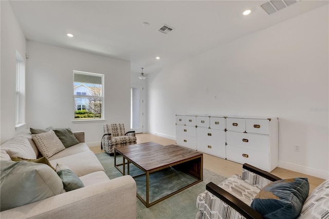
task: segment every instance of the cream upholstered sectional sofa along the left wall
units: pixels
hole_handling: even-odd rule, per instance
[[[36,202],[3,210],[0,212],[1,218],[136,218],[135,180],[129,175],[109,179],[95,154],[90,151],[84,142],[84,132],[75,132],[74,135],[80,143],[72,145],[49,157],[49,162],[54,168],[60,163],[71,169],[83,182],[84,187],[68,192],[61,188],[57,192],[60,194],[49,195],[49,197],[37,200]],[[2,144],[0,149],[2,166],[2,197],[0,205],[3,209],[3,206],[15,205],[15,203],[8,202],[12,202],[12,199],[10,199],[11,195],[16,192],[16,189],[13,187],[16,182],[9,186],[7,183],[5,187],[5,179],[19,172],[9,172],[6,169],[7,166],[16,167],[19,162],[22,165],[31,163],[28,161],[11,161],[11,157],[36,159],[41,155],[31,139],[30,132],[24,132],[10,139]],[[30,164],[28,165],[31,166]],[[57,173],[49,166],[40,163],[33,163],[33,165],[38,168],[42,167],[43,171],[46,171],[46,177],[57,177]],[[34,168],[34,166],[31,167]],[[26,174],[29,177],[31,176],[30,173]],[[56,178],[52,182],[55,183],[54,181],[56,181],[57,183],[57,180]],[[24,184],[24,180],[21,183]],[[26,185],[16,185],[15,187],[19,188],[18,191],[21,191],[24,186]],[[33,187],[36,187],[36,185],[29,185],[28,190],[40,192],[39,188]],[[22,199],[25,198],[23,194],[21,192]],[[6,199],[5,197],[7,195],[10,198]],[[20,200],[17,200],[17,202],[19,203]]]

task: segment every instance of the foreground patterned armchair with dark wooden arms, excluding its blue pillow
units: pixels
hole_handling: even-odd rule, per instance
[[[263,218],[250,205],[262,188],[280,179],[245,163],[241,177],[233,175],[218,185],[212,182],[206,185],[206,191],[197,196],[196,218]],[[329,218],[328,203],[329,180],[326,180],[307,196],[296,218]]]

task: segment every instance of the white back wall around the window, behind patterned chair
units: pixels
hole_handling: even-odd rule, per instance
[[[70,127],[84,131],[85,141],[99,145],[104,123],[130,128],[130,62],[27,41],[28,127]],[[72,122],[73,70],[104,74],[104,118],[100,122]]]

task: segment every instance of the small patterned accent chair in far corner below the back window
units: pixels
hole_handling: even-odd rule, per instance
[[[103,124],[104,135],[101,140],[101,149],[110,156],[114,154],[114,148],[122,145],[136,144],[135,131],[124,132],[124,124]]]

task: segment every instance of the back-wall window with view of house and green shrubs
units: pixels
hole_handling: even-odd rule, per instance
[[[104,75],[73,71],[74,120],[103,119]]]

